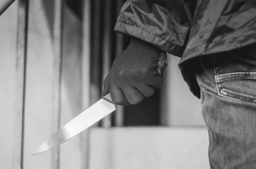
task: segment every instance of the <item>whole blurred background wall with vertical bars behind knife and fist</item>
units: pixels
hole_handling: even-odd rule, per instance
[[[68,142],[31,156],[102,97],[102,82],[131,38],[113,32],[124,2],[16,0],[0,16],[0,169],[209,168],[200,100],[172,55],[152,97],[117,106]]]

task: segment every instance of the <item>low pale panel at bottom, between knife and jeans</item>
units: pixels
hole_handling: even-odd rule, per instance
[[[207,129],[91,130],[90,169],[209,169]]]

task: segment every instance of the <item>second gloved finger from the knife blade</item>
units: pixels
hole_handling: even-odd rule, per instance
[[[144,95],[133,86],[125,87],[122,91],[128,102],[133,105],[140,103],[144,99]]]

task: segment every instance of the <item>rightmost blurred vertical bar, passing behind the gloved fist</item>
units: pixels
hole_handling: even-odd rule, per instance
[[[116,18],[124,4],[123,0],[117,0],[116,5]],[[116,33],[116,56],[124,50],[124,35]],[[124,107],[123,106],[116,106],[115,112],[115,124],[116,126],[123,126],[124,124]]]

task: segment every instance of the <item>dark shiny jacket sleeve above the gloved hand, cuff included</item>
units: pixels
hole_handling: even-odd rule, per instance
[[[114,31],[137,37],[182,57],[196,0],[127,0]]]

